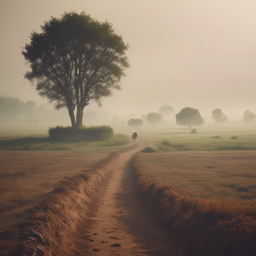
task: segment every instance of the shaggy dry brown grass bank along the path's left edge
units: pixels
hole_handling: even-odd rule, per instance
[[[90,171],[67,179],[30,209],[23,222],[0,233],[0,254],[85,255],[77,249],[86,239],[83,225],[118,156],[113,153]]]

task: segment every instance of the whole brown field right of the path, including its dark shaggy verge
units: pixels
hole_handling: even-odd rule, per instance
[[[134,178],[143,201],[188,255],[252,256],[256,255],[255,156],[255,152],[139,154],[133,159]],[[248,193],[250,200],[241,198]]]

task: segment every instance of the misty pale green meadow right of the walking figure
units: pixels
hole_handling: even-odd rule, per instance
[[[254,123],[205,124],[193,128],[197,129],[197,134],[190,134],[187,127],[174,123],[159,127],[142,126],[136,132],[138,140],[150,140],[156,152],[256,150]],[[130,136],[135,129],[115,127],[115,131]]]

